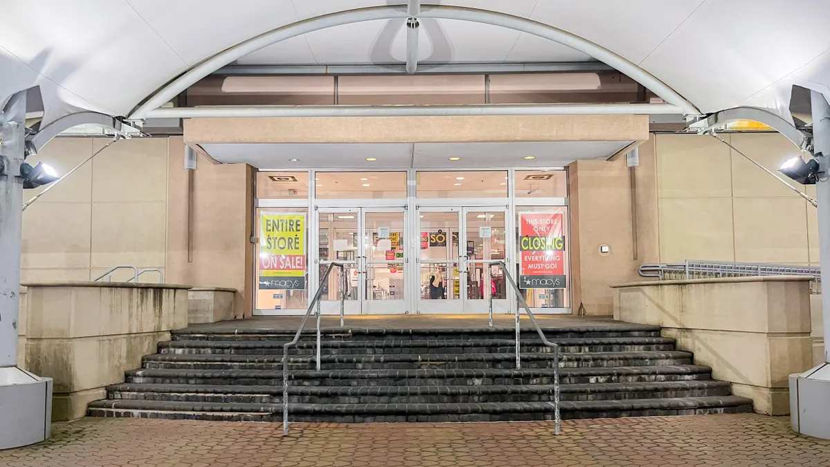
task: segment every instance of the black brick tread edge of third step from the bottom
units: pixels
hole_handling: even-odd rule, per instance
[[[671,365],[671,366],[611,366],[591,368],[561,368],[560,376],[607,376],[607,375],[654,375],[654,374],[690,374],[710,373],[709,366]],[[187,377],[187,378],[282,378],[282,370],[193,370],[175,368],[143,368],[125,371],[127,376],[144,377]],[[428,378],[428,377],[523,377],[553,376],[554,368],[498,369],[498,368],[463,368],[463,369],[404,369],[404,370],[289,370],[291,379],[372,379],[384,377]]]

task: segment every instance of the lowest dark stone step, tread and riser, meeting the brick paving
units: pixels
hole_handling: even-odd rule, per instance
[[[183,401],[93,401],[89,414],[182,420],[280,421],[281,404]],[[552,402],[478,404],[291,404],[290,420],[334,423],[552,420]],[[701,415],[752,410],[740,396],[708,396],[629,401],[562,401],[563,419],[642,415]]]

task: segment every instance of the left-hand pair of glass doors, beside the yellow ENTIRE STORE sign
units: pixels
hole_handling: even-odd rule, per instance
[[[320,208],[315,219],[319,241],[312,253],[323,288],[321,312],[340,312],[343,287],[346,314],[405,312],[405,208]],[[323,283],[331,263],[344,268],[334,268]]]

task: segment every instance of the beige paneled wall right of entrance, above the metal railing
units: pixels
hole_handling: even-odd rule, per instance
[[[769,170],[798,155],[778,133],[721,137]],[[784,184],[711,136],[652,135],[647,145],[657,155],[662,263],[818,264],[816,209]]]

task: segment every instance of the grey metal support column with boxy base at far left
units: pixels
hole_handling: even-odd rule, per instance
[[[52,381],[17,368],[26,92],[0,113],[0,449],[46,440]]]

